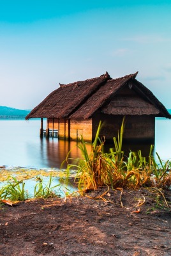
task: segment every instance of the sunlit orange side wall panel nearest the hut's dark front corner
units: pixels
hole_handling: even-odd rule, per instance
[[[83,136],[85,141],[92,141],[92,120],[70,120],[71,140],[80,140]]]

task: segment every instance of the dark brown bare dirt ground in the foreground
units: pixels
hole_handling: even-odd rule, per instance
[[[27,200],[0,216],[0,255],[171,255],[171,191]]]

